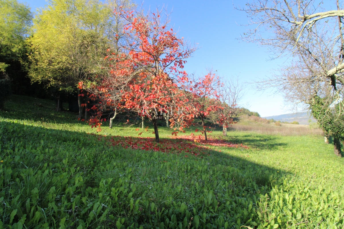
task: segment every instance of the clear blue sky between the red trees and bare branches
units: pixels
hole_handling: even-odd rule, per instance
[[[19,1],[27,2],[32,11],[46,4],[45,0]],[[185,64],[188,73],[200,75],[206,68],[212,68],[220,76],[238,76],[240,82],[245,83],[246,91],[240,105],[262,117],[292,112],[284,106],[280,95],[256,93],[249,84],[271,75],[274,69],[283,65],[283,60],[269,60],[266,47],[236,39],[245,32],[246,28],[240,24],[247,24],[248,18],[245,12],[235,10],[234,5],[243,6],[244,0],[145,0],[136,3],[142,4],[144,9],[164,6],[172,11],[171,25],[175,30],[179,30],[181,37],[198,43],[200,48]]]

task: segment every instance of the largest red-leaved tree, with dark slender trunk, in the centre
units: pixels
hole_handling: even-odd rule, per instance
[[[121,36],[118,53],[109,53],[109,74],[101,76],[90,89],[89,98],[98,101],[92,109],[96,115],[89,122],[98,128],[101,115],[106,109],[125,108],[147,117],[154,126],[155,140],[159,142],[157,119],[169,111],[171,127],[181,118],[189,118],[186,113],[178,112],[187,102],[180,86],[187,82],[183,71],[185,59],[195,48],[179,38],[172,27],[168,26],[161,11],[156,13],[128,12],[116,10],[115,13],[127,22]],[[88,88],[88,91],[92,91]]]

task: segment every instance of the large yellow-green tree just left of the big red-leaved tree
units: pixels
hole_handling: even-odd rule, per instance
[[[110,46],[111,16],[112,9],[99,1],[49,1],[33,20],[31,80],[45,81],[58,91],[73,91],[79,81],[100,73]],[[83,107],[78,98],[81,117]]]

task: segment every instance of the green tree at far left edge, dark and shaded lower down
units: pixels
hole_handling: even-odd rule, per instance
[[[17,0],[0,0],[0,68],[6,70],[16,94],[34,95],[42,88],[31,85],[26,77],[29,65],[26,38],[30,35],[32,18],[28,5]]]

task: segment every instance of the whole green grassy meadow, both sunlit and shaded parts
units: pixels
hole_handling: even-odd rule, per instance
[[[54,108],[14,95],[0,111],[0,228],[343,228],[344,160],[322,136],[229,131],[250,148],[184,157],[110,146]]]

